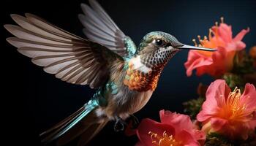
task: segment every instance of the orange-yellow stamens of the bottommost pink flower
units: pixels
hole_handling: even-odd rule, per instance
[[[166,131],[162,135],[158,135],[154,132],[149,131],[148,134],[151,135],[152,144],[156,146],[179,146],[180,142],[177,142],[173,138],[173,135],[168,135]]]

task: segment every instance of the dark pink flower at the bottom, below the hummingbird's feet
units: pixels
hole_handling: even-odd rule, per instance
[[[189,116],[161,110],[161,123],[143,119],[135,130],[143,146],[199,146],[205,142],[206,135],[197,130]]]

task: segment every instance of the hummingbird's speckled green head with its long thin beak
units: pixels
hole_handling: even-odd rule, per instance
[[[154,31],[143,37],[137,55],[140,55],[141,63],[152,68],[164,66],[181,49],[214,51],[214,49],[184,45],[170,34]]]

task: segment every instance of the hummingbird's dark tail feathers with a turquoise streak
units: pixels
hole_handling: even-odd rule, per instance
[[[95,110],[99,106],[95,102],[89,101],[77,112],[40,134],[42,143],[48,144],[57,139],[57,145],[65,145],[80,136],[78,145],[86,145],[108,123],[108,118],[97,116]]]

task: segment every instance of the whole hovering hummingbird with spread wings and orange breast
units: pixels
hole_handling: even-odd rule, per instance
[[[110,120],[115,121],[115,131],[124,130],[127,118],[138,123],[133,114],[151,98],[173,55],[184,49],[214,51],[184,45],[162,31],[146,34],[136,46],[97,1],[89,0],[81,9],[78,18],[86,39],[29,13],[25,17],[12,14],[18,25],[4,25],[15,36],[7,42],[34,64],[44,66],[45,72],[97,90],[78,111],[39,135],[45,144],[65,145],[79,136],[78,145],[86,145]]]

